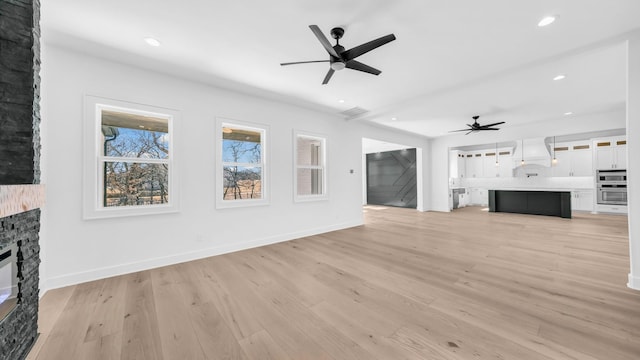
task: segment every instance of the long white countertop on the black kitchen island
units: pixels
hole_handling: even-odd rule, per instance
[[[486,188],[486,189],[593,189],[593,176],[571,177],[509,177],[509,178],[452,178],[451,188]]]

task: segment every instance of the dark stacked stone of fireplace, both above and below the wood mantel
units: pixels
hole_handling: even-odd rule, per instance
[[[39,103],[40,2],[0,0],[0,187],[40,183]],[[38,334],[39,231],[38,209],[0,218],[0,248],[18,243],[20,278],[19,302],[0,319],[0,359],[24,359]]]

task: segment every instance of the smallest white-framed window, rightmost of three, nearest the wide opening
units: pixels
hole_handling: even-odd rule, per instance
[[[325,159],[325,138],[294,133],[294,199],[296,201],[326,198]]]

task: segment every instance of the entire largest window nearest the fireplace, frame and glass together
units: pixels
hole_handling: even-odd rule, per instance
[[[85,218],[177,211],[177,112],[85,97]]]

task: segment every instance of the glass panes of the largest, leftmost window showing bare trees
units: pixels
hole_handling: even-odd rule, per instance
[[[102,110],[104,207],[169,202],[169,120]]]

